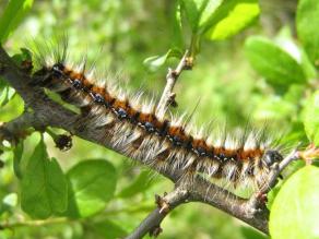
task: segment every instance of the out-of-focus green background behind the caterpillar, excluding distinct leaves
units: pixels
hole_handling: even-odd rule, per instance
[[[0,1],[0,14],[7,1]],[[229,126],[244,126],[251,120],[263,123],[291,126],[295,108],[281,101],[272,88],[251,69],[244,53],[244,43],[252,34],[275,37],[279,33],[294,37],[296,1],[262,0],[259,21],[244,33],[223,41],[203,41],[192,71],[184,72],[176,85],[176,112],[191,111],[200,100],[196,112],[198,124],[212,119],[227,121]],[[98,69],[119,75],[121,85],[130,91],[144,89],[158,96],[165,85],[170,60],[156,72],[149,72],[144,59],[163,55],[172,41],[170,21],[174,1],[147,0],[54,0],[35,1],[32,11],[9,38],[5,49],[17,52],[31,39],[52,39],[67,33],[70,52],[74,61],[87,55]],[[186,38],[187,39],[187,38]],[[275,108],[277,107],[277,108]],[[19,96],[1,109],[0,120],[8,121],[23,110]],[[280,112],[279,112],[280,111]],[[288,122],[288,123],[287,123]],[[24,157],[28,157],[39,135],[26,140]],[[105,158],[117,170],[117,196],[104,212],[82,222],[51,222],[40,226],[19,225],[3,231],[4,238],[111,238],[110,225],[118,230],[131,231],[147,212],[154,207],[154,194],[170,191],[173,184],[163,177],[147,171],[114,152],[81,139],[74,139],[73,147],[59,152],[49,136],[46,143],[50,156],[55,156],[63,170],[79,160]],[[10,158],[12,155],[4,155]],[[16,179],[12,172],[12,160],[0,171],[0,199],[16,192]],[[135,184],[134,184],[135,183]],[[140,189],[137,189],[140,188]],[[1,215],[0,220],[27,218],[19,207],[12,214]],[[104,223],[108,222],[107,226]],[[178,207],[163,223],[161,238],[259,238],[239,220],[204,204],[191,203]],[[108,237],[108,236],[109,237]],[[1,231],[0,231],[0,238]]]

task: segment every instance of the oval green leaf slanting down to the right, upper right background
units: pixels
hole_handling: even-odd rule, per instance
[[[253,69],[274,87],[287,88],[293,83],[307,81],[298,62],[264,37],[249,37],[245,50]]]

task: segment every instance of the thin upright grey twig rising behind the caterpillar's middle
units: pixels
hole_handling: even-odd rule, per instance
[[[191,67],[192,67],[191,61],[188,59],[187,50],[175,70],[168,68],[168,73],[166,75],[166,85],[156,108],[156,116],[160,119],[164,117],[167,107],[175,103],[175,94],[173,93],[173,88],[175,86],[177,79],[179,77],[184,70],[191,69]]]

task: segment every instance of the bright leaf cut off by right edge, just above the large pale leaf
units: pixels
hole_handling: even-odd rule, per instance
[[[319,146],[319,91],[307,100],[303,116],[308,139]]]

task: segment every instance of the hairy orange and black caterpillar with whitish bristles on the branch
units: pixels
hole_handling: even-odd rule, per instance
[[[80,108],[84,130],[85,126],[104,129],[102,136],[113,148],[160,170],[179,170],[188,183],[200,175],[258,190],[267,187],[271,166],[283,159],[281,147],[264,129],[208,134],[185,115],[174,117],[168,109],[158,113],[154,99],[143,100],[142,93],[130,95],[103,77],[96,79],[87,72],[85,61],[73,67],[68,44],[38,50],[35,56],[35,84]]]

